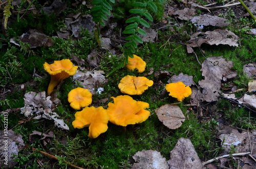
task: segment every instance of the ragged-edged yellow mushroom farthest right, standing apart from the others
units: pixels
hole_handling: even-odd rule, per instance
[[[192,90],[189,86],[185,85],[183,82],[169,83],[166,85],[165,89],[170,92],[173,98],[177,98],[179,102],[183,101],[190,94]]]

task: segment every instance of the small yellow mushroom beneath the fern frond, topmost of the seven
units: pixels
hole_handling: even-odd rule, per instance
[[[146,68],[146,62],[137,55],[133,56],[133,58],[128,58],[128,64],[126,65],[126,67],[130,70],[134,70],[135,68],[137,68],[138,73],[142,73]]]

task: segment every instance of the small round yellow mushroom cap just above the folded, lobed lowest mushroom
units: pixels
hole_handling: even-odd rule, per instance
[[[69,92],[68,101],[73,109],[80,110],[92,103],[92,96],[88,89],[77,87]]]

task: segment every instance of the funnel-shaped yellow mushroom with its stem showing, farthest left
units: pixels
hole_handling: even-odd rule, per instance
[[[51,75],[51,82],[48,86],[47,93],[51,93],[59,82],[76,74],[77,66],[73,66],[73,63],[69,59],[63,59],[54,61],[52,64],[45,62],[45,70]]]

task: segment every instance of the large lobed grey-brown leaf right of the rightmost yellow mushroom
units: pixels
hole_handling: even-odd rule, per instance
[[[232,70],[233,62],[226,61],[223,56],[207,58],[202,64],[200,71],[204,80],[198,82],[202,91],[202,100],[206,102],[218,101],[221,91],[221,81],[227,81],[237,76],[237,72]]]

